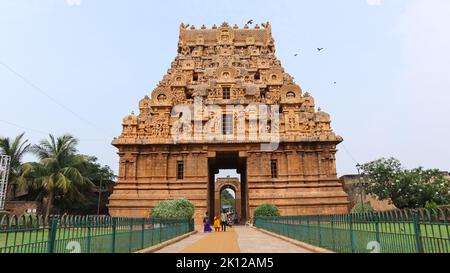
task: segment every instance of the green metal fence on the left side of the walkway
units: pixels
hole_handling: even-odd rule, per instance
[[[188,219],[4,216],[0,253],[130,253],[193,230]]]

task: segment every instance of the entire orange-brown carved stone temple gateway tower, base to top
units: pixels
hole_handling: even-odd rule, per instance
[[[148,217],[159,202],[186,198],[201,223],[217,214],[215,175],[226,169],[240,174],[238,186],[222,184],[239,195],[242,222],[265,203],[282,215],[348,212],[336,174],[342,138],[284,71],[269,23],[181,24],[167,74],[122,126],[112,216]]]

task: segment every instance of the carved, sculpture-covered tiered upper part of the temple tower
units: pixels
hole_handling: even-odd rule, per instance
[[[203,126],[214,119],[221,122],[221,115],[208,112],[209,105],[219,105],[223,109],[226,105],[278,105],[280,122],[276,129],[282,141],[342,141],[333,133],[329,115],[316,110],[314,98],[303,92],[293,77],[284,71],[275,56],[269,23],[254,28],[223,23],[199,29],[180,25],[175,60],[151,96],[140,101],[139,114],[124,118],[123,132],[113,144],[173,143],[174,130],[180,129],[175,128],[177,119],[171,115],[173,107],[193,106],[196,98],[201,98],[201,109],[196,111],[201,115]],[[243,125],[246,137],[239,142],[258,142],[248,137],[250,113],[235,111],[233,115],[234,120],[238,117],[246,120]],[[195,119],[192,118],[192,125]],[[237,122],[234,126],[238,126]],[[180,130],[183,129],[194,135],[192,129]],[[205,142],[207,134],[186,138],[184,142]]]

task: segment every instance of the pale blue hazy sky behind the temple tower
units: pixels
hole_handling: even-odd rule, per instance
[[[0,0],[0,136],[71,133],[117,170],[111,140],[170,67],[180,23],[253,19],[344,138],[339,176],[391,156],[449,171],[449,14],[448,0]]]

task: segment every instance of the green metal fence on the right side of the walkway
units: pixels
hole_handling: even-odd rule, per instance
[[[449,253],[450,209],[257,218],[255,225],[344,253]]]

